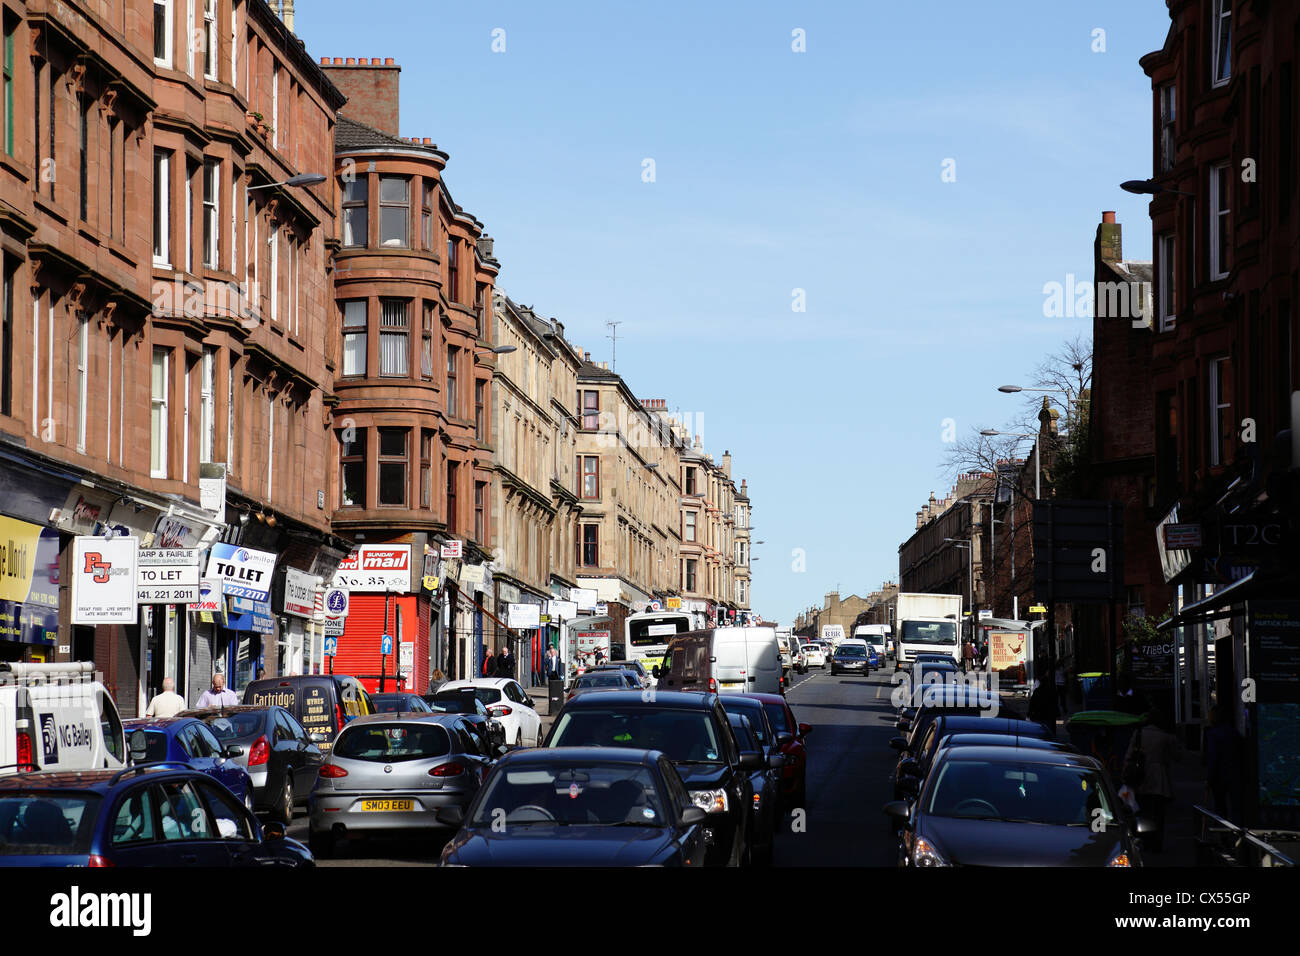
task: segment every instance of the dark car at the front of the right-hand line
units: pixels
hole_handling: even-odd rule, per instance
[[[900,866],[1140,866],[1147,830],[1092,757],[1027,747],[945,748],[901,827]]]

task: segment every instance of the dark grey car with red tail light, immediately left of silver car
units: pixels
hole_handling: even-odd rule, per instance
[[[202,721],[222,747],[243,749],[230,760],[252,782],[254,810],[291,823],[294,808],[307,803],[324,754],[283,708],[237,705],[216,710],[182,710],[177,717]]]

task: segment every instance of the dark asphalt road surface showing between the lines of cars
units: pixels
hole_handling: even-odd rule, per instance
[[[776,866],[894,866],[897,842],[880,808],[893,797],[889,749],[894,711],[889,702],[893,669],[870,678],[831,676],[814,667],[796,676],[786,700],[809,735],[807,806],[788,817],[776,839]],[[543,705],[545,710],[545,705]],[[299,809],[289,835],[307,842],[307,816]],[[429,866],[443,839],[376,839],[341,844],[320,866]]]

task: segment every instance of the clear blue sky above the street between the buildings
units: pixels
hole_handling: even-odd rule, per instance
[[[1160,0],[296,7],[313,57],[402,65],[400,134],[451,153],[500,287],[597,360],[621,323],[632,390],[703,416],[783,623],[896,579],[942,420],[1005,425],[996,386],[1091,329],[1043,286],[1091,280],[1104,209],[1150,258],[1118,183],[1152,172]]]

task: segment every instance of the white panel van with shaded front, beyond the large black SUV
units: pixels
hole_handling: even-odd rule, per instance
[[[781,693],[781,653],[771,627],[712,627],[672,639],[660,669],[664,691]]]

